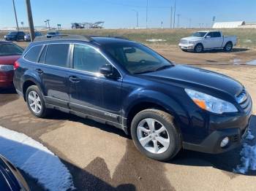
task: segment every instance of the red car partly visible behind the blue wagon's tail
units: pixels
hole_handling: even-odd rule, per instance
[[[13,65],[23,49],[12,42],[0,41],[0,87],[13,86]]]

